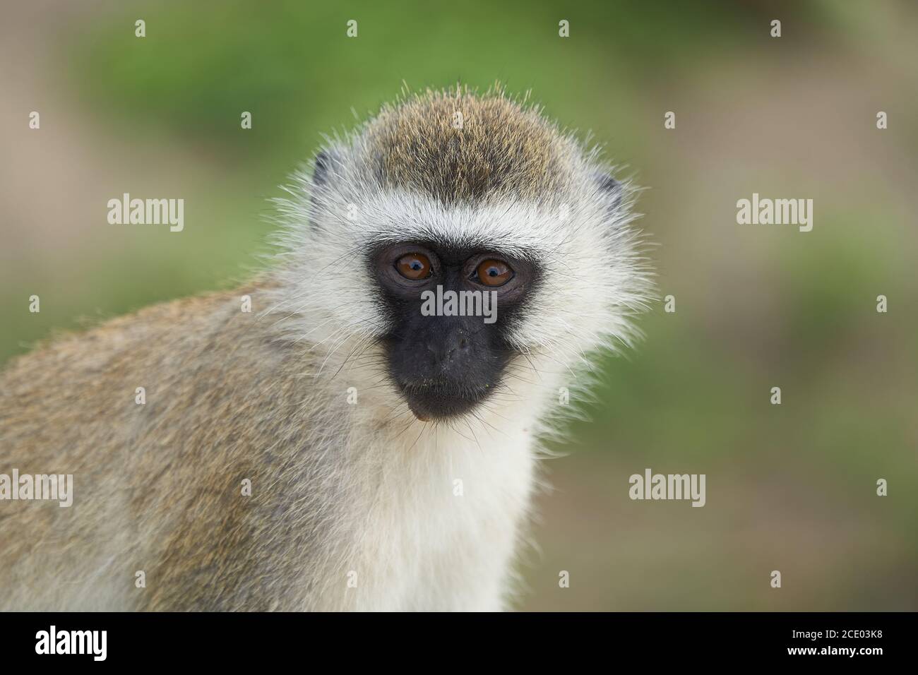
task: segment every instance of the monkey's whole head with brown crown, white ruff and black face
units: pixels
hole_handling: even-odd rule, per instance
[[[557,387],[633,337],[650,283],[632,191],[538,108],[499,90],[410,96],[298,181],[281,309],[329,351],[374,348],[419,419],[475,414],[514,378]]]

